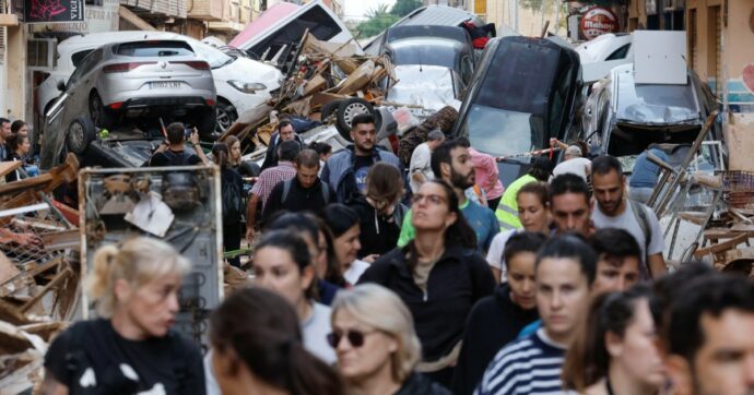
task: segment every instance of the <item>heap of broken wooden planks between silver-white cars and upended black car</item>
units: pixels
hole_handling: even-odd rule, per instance
[[[379,113],[375,107],[382,105],[415,107],[385,100],[381,86],[386,79],[389,79],[389,84],[398,82],[394,68],[386,56],[358,56],[354,44],[321,41],[309,33],[304,34],[291,53],[284,68],[288,73],[278,96],[267,106],[241,113],[220,137],[221,141],[236,135],[241,141],[254,139],[256,146],[259,143],[267,145],[278,123],[269,117],[273,110],[308,119],[311,124],[334,123],[341,135],[347,139],[351,120],[356,115]]]

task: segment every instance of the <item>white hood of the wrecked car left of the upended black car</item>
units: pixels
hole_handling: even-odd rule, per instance
[[[417,105],[425,109],[439,110],[445,106],[459,109],[456,98],[453,71],[440,65],[397,65],[398,83],[388,91],[388,101],[402,105]],[[456,76],[457,77],[457,76]]]

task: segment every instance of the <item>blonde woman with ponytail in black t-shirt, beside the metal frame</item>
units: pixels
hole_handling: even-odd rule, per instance
[[[199,347],[170,330],[189,262],[169,244],[133,238],[94,253],[85,289],[98,319],[58,335],[44,394],[203,394]]]

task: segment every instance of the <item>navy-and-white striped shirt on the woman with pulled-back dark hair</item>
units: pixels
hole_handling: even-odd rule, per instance
[[[565,348],[545,340],[544,330],[505,346],[487,370],[474,395],[563,395],[561,371]]]

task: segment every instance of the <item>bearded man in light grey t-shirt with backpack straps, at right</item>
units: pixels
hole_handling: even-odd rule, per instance
[[[668,273],[662,259],[664,240],[655,212],[639,202],[626,199],[626,180],[621,163],[613,156],[597,157],[591,165],[594,206],[591,219],[594,228],[625,229],[641,248],[641,278],[649,279]]]

